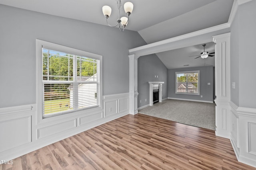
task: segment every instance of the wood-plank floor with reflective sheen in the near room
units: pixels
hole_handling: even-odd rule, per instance
[[[0,170],[253,170],[229,139],[148,115],[126,115],[2,164]]]

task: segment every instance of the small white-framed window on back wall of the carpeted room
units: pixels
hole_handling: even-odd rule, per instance
[[[199,95],[199,71],[176,72],[176,94]]]

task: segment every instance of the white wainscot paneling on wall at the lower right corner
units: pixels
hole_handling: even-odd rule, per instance
[[[256,109],[230,102],[230,142],[239,162],[256,167]]]

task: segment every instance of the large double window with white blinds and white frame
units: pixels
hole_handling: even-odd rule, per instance
[[[37,43],[42,117],[100,107],[102,56],[46,41]]]

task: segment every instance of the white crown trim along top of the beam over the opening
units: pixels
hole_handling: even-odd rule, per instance
[[[198,35],[210,33],[210,32],[213,32],[213,31],[218,31],[218,30],[221,30],[221,29],[226,29],[226,28],[229,28],[229,27],[230,27],[229,23],[223,23],[223,24],[220,24],[220,25],[216,25],[216,26],[213,26],[213,27],[206,28],[206,29],[201,29],[199,31],[194,31],[192,33],[187,33],[187,34],[180,35],[180,36],[177,36],[177,37],[173,37],[173,38],[165,39],[165,40],[158,41],[158,42],[155,42],[155,43],[151,43],[151,44],[143,45],[143,46],[136,47],[136,48],[133,48],[133,49],[129,49],[129,54],[134,54],[134,53],[136,53],[137,51],[140,51],[140,50],[146,50],[146,49],[149,49],[149,48],[152,48],[152,47],[164,45],[164,44],[167,44],[167,43],[172,43],[174,41],[179,41],[179,40],[182,40],[182,39],[195,37],[195,36],[198,36]]]

